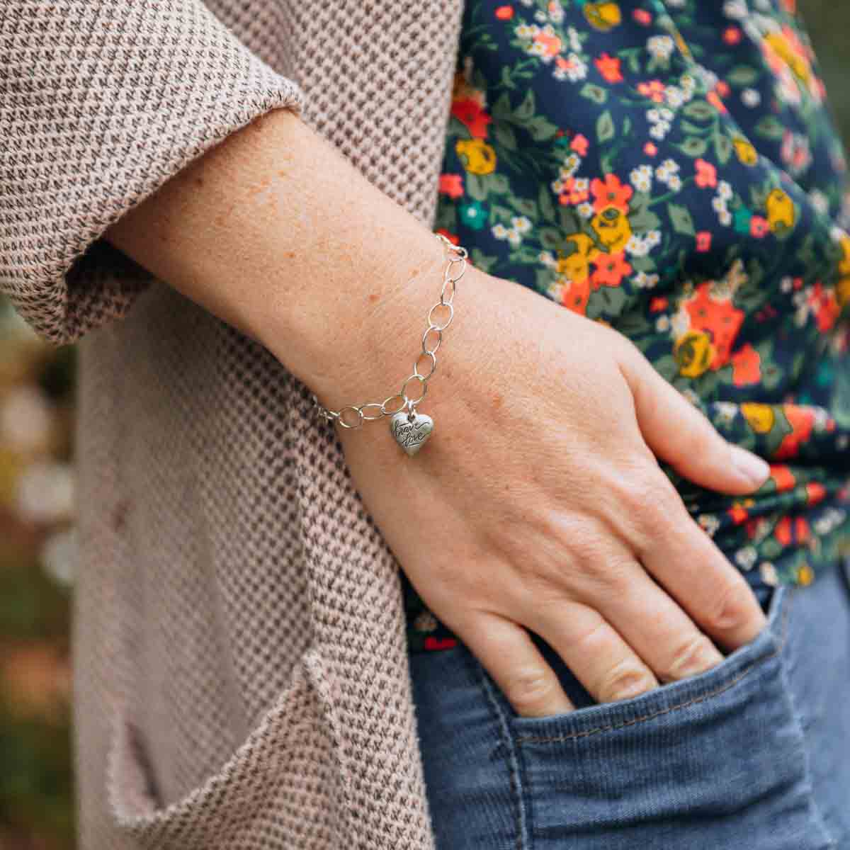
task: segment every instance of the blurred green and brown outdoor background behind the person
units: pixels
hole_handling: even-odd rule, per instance
[[[850,3],[800,5],[850,139]],[[74,845],[74,371],[73,348],[39,342],[0,300],[0,850]]]

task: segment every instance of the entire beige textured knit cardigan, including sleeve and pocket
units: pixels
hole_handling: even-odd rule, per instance
[[[398,564],[309,390],[100,238],[300,111],[432,225],[462,0],[2,0],[0,288],[77,341],[81,850],[431,850]]]

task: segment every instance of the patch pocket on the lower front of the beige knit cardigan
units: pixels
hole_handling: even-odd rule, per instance
[[[328,815],[341,804],[348,775],[322,694],[329,681],[324,661],[309,650],[293,669],[290,686],[228,761],[165,807],[157,800],[150,753],[132,712],[118,709],[106,793],[113,825],[132,842],[128,846],[232,850],[260,835],[275,847],[312,846],[320,839],[337,846]]]

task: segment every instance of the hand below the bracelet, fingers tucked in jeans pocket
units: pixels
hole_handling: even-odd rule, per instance
[[[572,708],[526,629],[600,702],[715,666],[712,639],[754,638],[757,598],[655,456],[732,494],[768,465],[616,331],[473,268],[455,304],[420,405],[428,445],[409,458],[377,423],[339,433],[402,569],[519,715]],[[415,336],[395,340],[415,353]],[[386,369],[387,388],[404,377]]]

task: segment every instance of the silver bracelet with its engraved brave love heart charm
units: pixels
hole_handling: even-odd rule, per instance
[[[360,428],[364,422],[373,422],[381,419],[383,416],[391,416],[389,422],[390,433],[393,434],[395,441],[410,456],[415,455],[425,445],[426,440],[431,436],[431,432],[433,431],[433,419],[424,413],[417,412],[416,405],[425,398],[425,394],[428,392],[428,379],[437,369],[437,349],[443,341],[443,331],[450,326],[451,320],[455,317],[453,303],[455,300],[456,283],[463,277],[463,273],[467,269],[467,249],[455,245],[441,233],[435,233],[434,235],[444,243],[446,251],[449,254],[443,273],[443,286],[439,291],[439,301],[428,310],[428,328],[422,334],[422,353],[416,357],[413,364],[413,372],[402,382],[401,390],[395,395],[383,399],[380,404],[376,401],[370,401],[365,405],[346,405],[338,411],[329,411],[321,405],[319,399],[313,394],[313,404],[318,414],[329,422],[337,422],[341,428]],[[452,275],[452,269],[456,263],[460,264],[460,270],[457,275]],[[448,317],[444,322],[438,323],[434,321],[434,312],[441,308],[448,310]],[[428,334],[436,335],[436,344],[433,345],[433,348],[428,348]],[[425,375],[422,375],[419,371],[419,360],[422,357],[427,357],[429,361],[428,373]],[[411,381],[419,382],[420,392],[419,397],[416,399],[411,399],[407,394],[407,385]],[[388,409],[388,405],[391,405],[397,399],[400,400],[401,404]],[[364,412],[370,409],[377,412]]]

